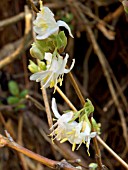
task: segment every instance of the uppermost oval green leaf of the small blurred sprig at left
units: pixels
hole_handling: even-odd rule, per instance
[[[10,93],[13,96],[19,95],[19,87],[18,87],[18,84],[15,81],[9,81],[8,88],[9,88]]]

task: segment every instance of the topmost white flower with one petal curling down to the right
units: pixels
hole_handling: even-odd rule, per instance
[[[70,27],[64,21],[59,20],[56,22],[52,11],[48,7],[44,7],[42,3],[40,4],[40,11],[37,13],[37,17],[33,24],[33,29],[37,33],[36,38],[38,40],[46,39],[50,35],[58,33],[60,26],[65,27],[68,30],[69,35],[73,37]]]

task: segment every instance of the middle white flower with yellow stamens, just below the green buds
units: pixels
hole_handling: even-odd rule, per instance
[[[69,69],[66,69],[66,64],[69,55],[63,59],[60,55],[58,57],[53,57],[51,53],[45,53],[44,59],[47,61],[47,69],[45,71],[40,71],[30,76],[30,80],[36,80],[36,82],[41,82],[43,87],[54,87],[59,82],[62,85],[64,73],[68,73],[74,66],[75,60]]]

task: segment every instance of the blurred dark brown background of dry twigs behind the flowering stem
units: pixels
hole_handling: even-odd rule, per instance
[[[37,0],[33,1],[39,9]],[[65,52],[69,65],[75,58],[72,73],[84,98],[95,106],[94,118],[101,123],[101,138],[125,161],[128,161],[128,21],[118,0],[44,0],[64,20],[74,38],[68,37]],[[12,138],[40,155],[53,160],[75,163],[80,158],[83,169],[95,162],[91,142],[88,157],[86,146],[71,152],[69,143],[53,146],[40,85],[31,82],[28,70],[33,40],[32,21],[27,18],[29,1],[0,1],[0,133],[6,129]],[[26,18],[26,19],[25,19]],[[27,20],[29,20],[27,22]],[[65,75],[61,87],[77,109],[82,105]],[[56,97],[59,111],[69,110],[53,89],[47,89],[49,103]],[[27,95],[27,96],[26,96]],[[36,140],[35,140],[36,139]],[[111,170],[123,170],[121,164],[99,144],[103,164]],[[75,163],[76,165],[76,163]],[[77,166],[77,165],[76,165]],[[50,169],[7,147],[0,148],[0,170]]]

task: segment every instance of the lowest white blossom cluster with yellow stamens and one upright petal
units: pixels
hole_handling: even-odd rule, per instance
[[[91,132],[91,124],[88,120],[87,115],[85,118],[81,119],[78,123],[77,121],[72,121],[74,117],[73,111],[68,111],[62,116],[59,114],[56,106],[55,98],[52,99],[52,111],[57,118],[57,122],[51,127],[53,132],[50,134],[53,139],[59,140],[61,143],[69,141],[72,144],[72,151],[81,146],[82,143],[86,143],[87,151],[89,153],[89,145],[91,138],[96,136],[96,132]]]

